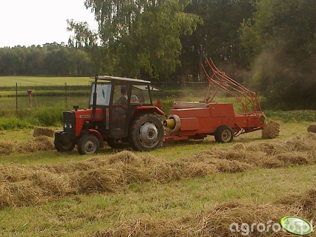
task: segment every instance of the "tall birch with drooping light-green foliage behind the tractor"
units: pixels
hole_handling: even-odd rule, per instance
[[[200,21],[184,12],[189,0],[87,0],[85,4],[99,22],[101,45],[107,48],[104,56],[112,58],[112,64],[103,67],[121,76],[146,79],[174,72],[179,65],[180,35],[191,34]],[[72,23],[69,29],[80,45],[86,45],[91,31]]]

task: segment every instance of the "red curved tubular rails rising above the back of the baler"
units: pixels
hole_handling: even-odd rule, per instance
[[[206,58],[206,62],[209,65],[213,74],[212,76],[209,76],[209,74],[206,72],[204,68],[204,65],[202,64],[202,69],[208,81],[210,82],[209,92],[210,92],[210,87],[217,87],[217,90],[213,94],[212,97],[205,98],[205,102],[207,103],[212,102],[216,94],[218,93],[218,91],[222,90],[226,92],[227,94],[233,96],[235,99],[237,99],[240,105],[243,107],[245,113],[254,114],[257,116],[259,116],[262,113],[256,93],[250,91],[249,89],[247,89],[240,83],[234,81],[229,76],[226,76],[225,72],[221,72],[220,70],[218,70],[211,58],[210,60]],[[208,95],[210,94],[209,92],[208,92]],[[253,112],[249,112],[248,107],[252,107]]]

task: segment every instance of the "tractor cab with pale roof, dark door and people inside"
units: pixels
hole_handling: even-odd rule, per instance
[[[94,91],[96,91],[95,108],[102,109],[103,114],[106,115],[105,128],[110,130],[108,137],[119,138],[128,135],[130,119],[141,110],[153,106],[151,92],[161,89],[150,85],[149,81],[98,76],[91,88],[89,108],[92,109]],[[135,114],[137,109],[140,111]]]

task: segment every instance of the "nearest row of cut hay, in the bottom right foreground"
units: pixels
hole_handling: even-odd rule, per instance
[[[292,199],[291,199],[292,198]],[[304,217],[307,221],[316,221],[316,187],[307,192],[288,195],[274,204],[240,204],[238,201],[218,204],[212,210],[198,214],[188,214],[181,218],[158,219],[143,215],[138,220],[128,220],[113,228],[97,232],[101,237],[206,237],[206,236],[291,236],[287,231],[278,230],[280,220],[289,215]],[[288,200],[294,200],[289,202]],[[240,232],[231,232],[230,224],[239,224]],[[246,223],[247,229],[241,228]],[[256,223],[251,231],[252,223]],[[265,230],[258,231],[257,225],[264,224]],[[267,227],[270,224],[269,231]],[[274,228],[273,228],[274,226]],[[261,226],[262,227],[262,226]],[[235,230],[236,226],[232,229]],[[259,228],[262,229],[262,228]],[[314,234],[311,234],[315,236]]]

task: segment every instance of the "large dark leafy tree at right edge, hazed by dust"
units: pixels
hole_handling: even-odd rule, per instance
[[[316,5],[309,0],[261,0],[243,22],[241,41],[252,56],[253,84],[270,105],[316,108]]]

